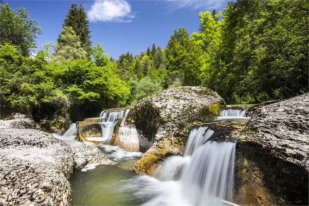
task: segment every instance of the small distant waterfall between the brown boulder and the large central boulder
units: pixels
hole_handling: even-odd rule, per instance
[[[100,113],[100,124],[102,131],[102,138],[106,143],[109,143],[109,140],[114,133],[114,128],[117,123],[117,119],[127,116],[130,109],[125,109],[122,111],[108,112],[107,110]]]

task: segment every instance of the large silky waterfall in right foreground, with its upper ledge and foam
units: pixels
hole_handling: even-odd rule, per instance
[[[234,161],[240,133],[236,125],[247,121],[242,111],[222,110],[224,118],[194,128],[183,156],[167,158],[155,170],[156,178],[138,177],[128,187],[135,189],[135,195],[144,199],[145,205],[235,205]],[[222,135],[220,125],[232,125],[232,130]]]

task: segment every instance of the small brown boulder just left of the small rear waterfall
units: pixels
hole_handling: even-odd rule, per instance
[[[77,135],[76,140],[81,142],[93,142],[97,143],[97,141],[87,140],[87,137],[101,137],[101,125],[99,123],[100,118],[86,118],[81,122],[76,122],[77,126]]]

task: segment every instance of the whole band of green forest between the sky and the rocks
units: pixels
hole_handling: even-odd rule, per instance
[[[231,1],[223,11],[200,12],[192,35],[177,28],[165,47],[153,43],[114,59],[102,44],[92,45],[82,4],[71,4],[57,41],[34,54],[39,22],[26,8],[3,3],[1,113],[40,119],[61,110],[77,121],[178,86],[210,88],[227,104],[307,93],[308,9],[307,0]]]

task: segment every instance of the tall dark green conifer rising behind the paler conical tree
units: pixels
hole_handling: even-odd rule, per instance
[[[73,28],[75,34],[79,37],[82,43],[83,49],[91,56],[91,41],[89,31],[89,20],[85,12],[84,6],[80,3],[77,6],[76,3],[72,3],[67,14],[67,18],[64,19],[64,26],[70,26]]]

